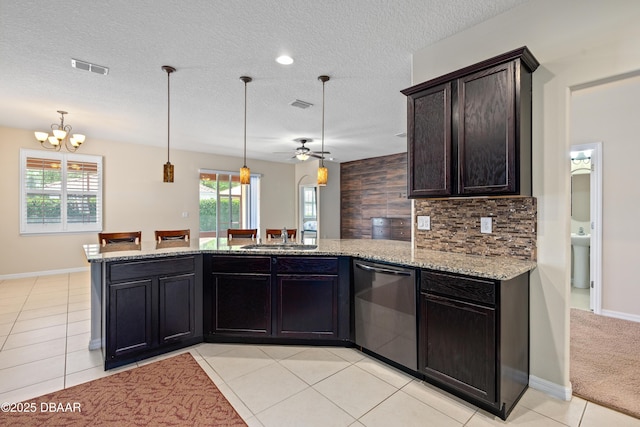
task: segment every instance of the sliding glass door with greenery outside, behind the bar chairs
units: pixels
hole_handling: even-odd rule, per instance
[[[258,199],[260,176],[251,185],[240,184],[238,172],[200,171],[200,241],[218,247],[229,228],[260,228]]]

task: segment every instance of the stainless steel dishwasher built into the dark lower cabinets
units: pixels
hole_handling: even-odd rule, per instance
[[[413,269],[353,260],[356,345],[418,369]]]

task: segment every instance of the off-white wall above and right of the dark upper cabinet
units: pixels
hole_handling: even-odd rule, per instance
[[[533,79],[533,186],[538,267],[531,274],[530,385],[568,398],[570,301],[570,99],[572,88],[640,70],[640,2],[535,0],[427,46],[413,82],[528,46]]]

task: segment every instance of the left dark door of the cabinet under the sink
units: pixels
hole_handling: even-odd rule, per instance
[[[271,335],[271,275],[213,275],[212,332]]]

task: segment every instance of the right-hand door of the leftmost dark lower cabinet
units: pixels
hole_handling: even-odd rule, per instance
[[[196,328],[195,274],[161,277],[158,290],[160,344],[193,337]]]

